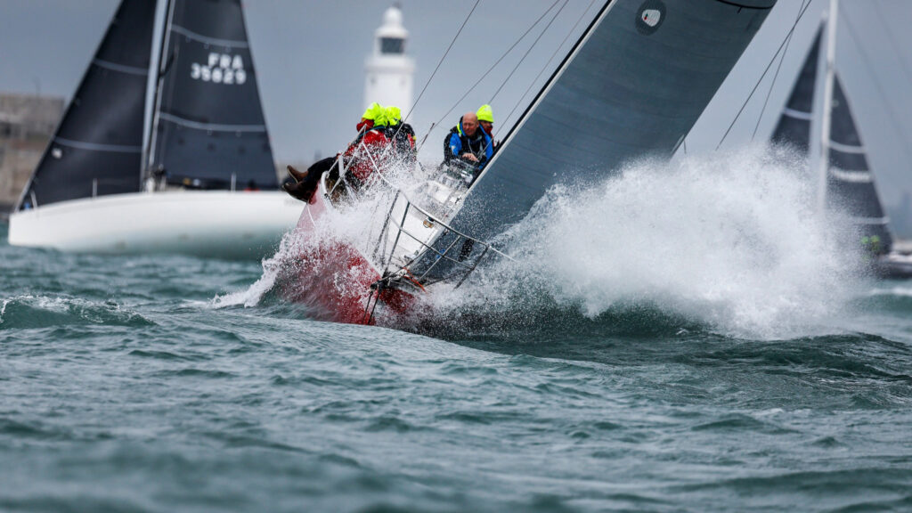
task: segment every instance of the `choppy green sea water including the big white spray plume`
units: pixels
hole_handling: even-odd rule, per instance
[[[287,256],[0,228],[0,510],[910,510],[912,282],[795,167],[554,188],[397,330],[283,301]]]

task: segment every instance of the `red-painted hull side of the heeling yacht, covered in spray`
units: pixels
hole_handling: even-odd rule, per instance
[[[378,270],[354,246],[341,242],[314,240],[315,222],[326,211],[324,199],[314,194],[295,231],[303,250],[293,269],[286,269],[281,286],[283,296],[305,305],[317,319],[348,324],[382,324],[407,315],[416,298],[399,288],[382,290],[371,318],[376,291],[371,284],[380,279]],[[308,238],[310,240],[308,240]]]

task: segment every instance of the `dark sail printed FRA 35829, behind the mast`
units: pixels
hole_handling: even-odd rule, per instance
[[[240,0],[172,0],[150,170],[205,189],[275,188]]]

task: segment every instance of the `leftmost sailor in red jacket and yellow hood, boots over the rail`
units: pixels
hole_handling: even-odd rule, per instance
[[[386,134],[386,114],[383,107],[377,102],[370,104],[361,120],[358,121],[358,137],[351,141],[345,152],[338,153],[335,157],[326,157],[315,162],[306,173],[297,171],[288,166],[288,173],[295,183],[284,183],[282,188],[296,199],[312,203],[316,185],[323,173],[329,172],[330,179],[338,180],[340,177],[337,162],[339,156],[346,169],[345,183],[353,189],[360,189],[368,182],[374,172],[374,166],[380,166],[389,153],[389,138]]]

